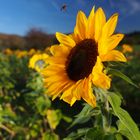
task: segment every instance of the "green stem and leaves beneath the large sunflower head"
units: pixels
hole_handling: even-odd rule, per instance
[[[80,129],[83,130],[82,133],[79,133],[78,129],[77,132],[71,133],[65,140],[78,140],[79,138],[85,140],[123,140],[123,137],[129,140],[140,139],[137,125],[128,112],[120,107],[122,96],[99,88],[95,88],[95,93],[98,94],[97,107],[93,109],[85,104],[70,127],[89,121],[91,123],[91,118],[93,119],[92,126],[86,128],[86,130],[84,128]],[[112,116],[118,117],[118,127],[113,126]]]

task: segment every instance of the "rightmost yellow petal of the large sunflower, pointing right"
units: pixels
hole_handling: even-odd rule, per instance
[[[102,61],[127,61],[123,53],[117,50],[109,51],[107,54],[100,56],[100,58]]]

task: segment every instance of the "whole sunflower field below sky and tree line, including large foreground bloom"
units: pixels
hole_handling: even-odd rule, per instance
[[[0,140],[140,140],[140,44],[117,21],[93,7],[50,46],[1,49]]]

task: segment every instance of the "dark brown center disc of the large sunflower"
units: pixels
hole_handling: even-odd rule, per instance
[[[92,39],[78,43],[70,52],[66,61],[66,72],[73,81],[88,77],[98,56],[97,44]]]

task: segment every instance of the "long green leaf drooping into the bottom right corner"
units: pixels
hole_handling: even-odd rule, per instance
[[[117,97],[115,93],[111,93],[108,95],[108,100],[113,108],[114,114],[120,120],[120,133],[128,137],[130,140],[140,139],[140,132],[137,125],[132,120],[131,116],[127,113],[127,111],[123,110],[120,107],[121,100],[119,99],[119,96]],[[130,135],[128,136],[128,134]]]

